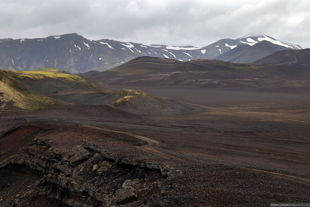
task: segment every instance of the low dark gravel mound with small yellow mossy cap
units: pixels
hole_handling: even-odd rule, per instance
[[[134,114],[177,114],[193,108],[170,98],[151,96],[140,90],[123,89],[116,93],[104,91],[89,93],[57,93],[54,98],[72,102],[104,105],[110,104]]]

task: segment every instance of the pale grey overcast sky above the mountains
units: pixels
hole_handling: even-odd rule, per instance
[[[0,38],[77,33],[88,39],[206,46],[267,34],[310,48],[309,0],[0,0]]]

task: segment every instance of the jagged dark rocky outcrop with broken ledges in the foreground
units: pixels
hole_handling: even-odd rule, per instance
[[[2,206],[18,206],[21,200],[31,206],[42,198],[53,199],[59,206],[165,206],[167,201],[154,201],[154,196],[167,188],[168,176],[179,173],[161,164],[118,157],[91,142],[64,153],[49,140],[34,139],[18,156],[0,163],[0,170],[8,162],[44,175],[36,184],[3,199]]]

